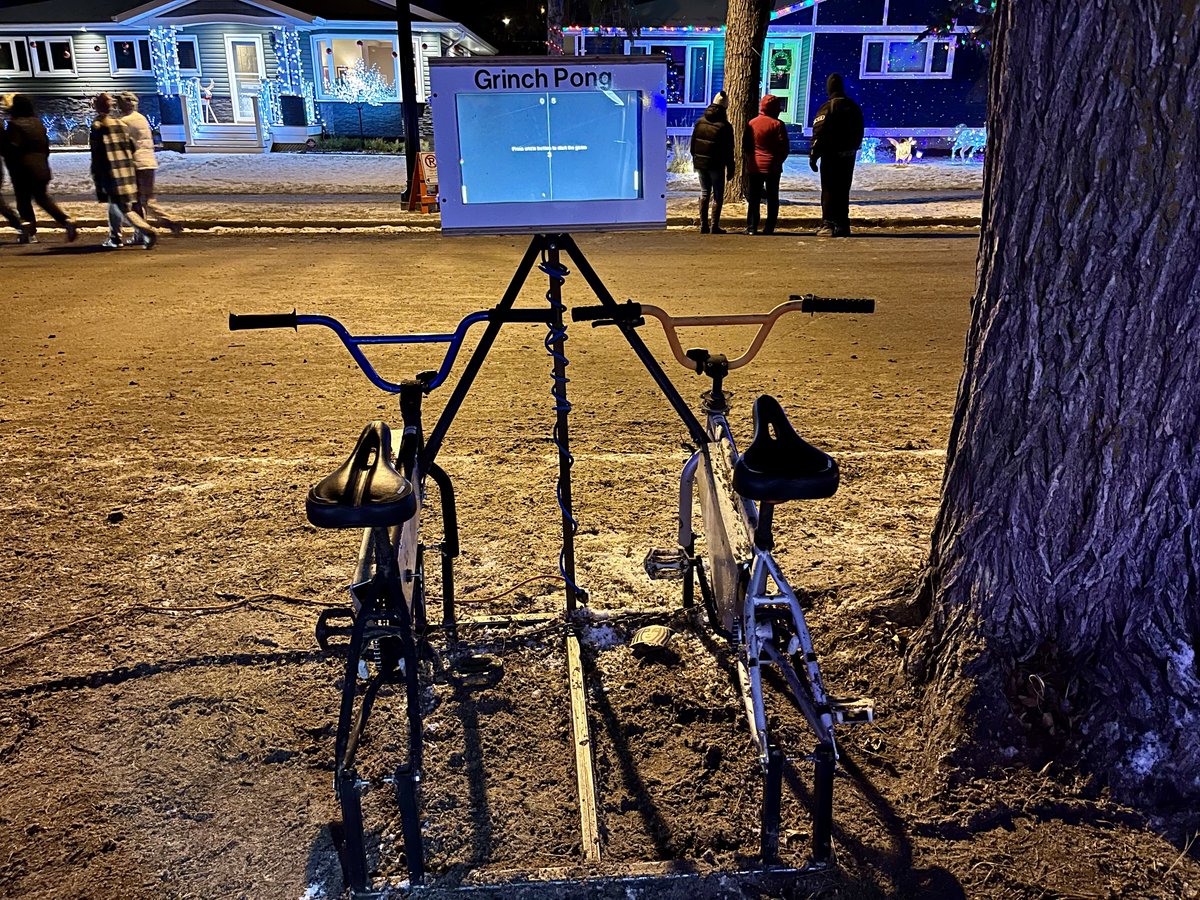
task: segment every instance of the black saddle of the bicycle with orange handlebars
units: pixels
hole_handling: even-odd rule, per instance
[[[733,490],[751,500],[782,503],[832,497],[838,463],[796,433],[779,401],[754,402],[754,438],[733,467]]]

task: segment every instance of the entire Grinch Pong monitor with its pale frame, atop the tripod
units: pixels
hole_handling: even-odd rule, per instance
[[[666,64],[430,60],[446,234],[666,226]]]

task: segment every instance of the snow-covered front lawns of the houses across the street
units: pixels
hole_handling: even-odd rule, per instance
[[[371,154],[158,154],[160,193],[391,193],[404,186],[404,157]],[[86,152],[56,152],[52,191],[91,193]],[[698,191],[695,173],[668,174],[672,193]],[[862,164],[854,170],[856,191],[979,191],[983,164],[949,160],[918,160],[910,166]],[[809,170],[808,156],[787,160],[782,191],[821,190]]]

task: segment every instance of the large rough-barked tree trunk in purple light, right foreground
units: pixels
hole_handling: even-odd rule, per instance
[[[996,10],[977,290],[907,660],[960,761],[1073,752],[1120,799],[1192,816],[1196,14]]]

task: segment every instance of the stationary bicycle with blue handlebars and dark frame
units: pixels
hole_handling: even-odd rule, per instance
[[[342,869],[355,895],[366,892],[370,881],[361,804],[370,782],[359,776],[355,762],[376,698],[388,684],[403,685],[408,718],[408,755],[390,779],[401,811],[404,857],[414,884],[421,883],[425,876],[418,799],[424,754],[419,658],[428,650],[425,640],[428,625],[425,552],[433,551],[442,557],[442,629],[452,642],[456,629],[452,560],[458,556],[458,520],[450,476],[434,462],[434,454],[462,402],[464,389],[457,391],[443,410],[430,443],[425,440],[421,401],[446,380],[473,325],[488,323],[498,329],[506,322],[550,323],[553,319],[553,311],[512,310],[502,305],[470,313],[448,334],[352,335],[341,322],[329,316],[295,311],[229,316],[232,331],[296,330],[300,325],[326,328],[349,350],[372,384],[400,396],[403,432],[395,452],[388,425],[380,420],[370,422],[347,461],[318,481],[305,503],[308,521],[319,528],[362,529],[362,542],[349,587],[350,608],[329,607],[322,611],[316,629],[320,648],[346,660],[334,742],[334,788],[342,811],[341,833],[336,835]],[[428,343],[449,344],[442,365],[436,371],[419,372],[403,382],[391,382],[380,376],[362,352],[365,346]],[[478,370],[481,359],[482,354],[476,348],[468,366],[472,373]],[[421,540],[426,479],[433,480],[440,498],[443,533],[442,540],[436,544]],[[344,638],[346,643],[336,643],[337,638]]]

